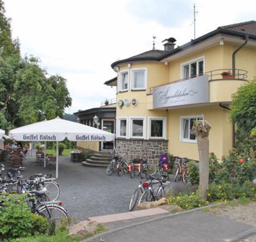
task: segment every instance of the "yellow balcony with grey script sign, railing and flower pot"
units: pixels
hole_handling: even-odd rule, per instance
[[[218,69],[201,76],[151,87],[147,95],[148,109],[230,103],[232,94],[246,81],[245,70]]]

